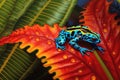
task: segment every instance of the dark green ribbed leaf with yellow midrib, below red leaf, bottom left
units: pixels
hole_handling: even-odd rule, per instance
[[[4,60],[2,65],[0,64],[0,77],[2,80],[22,79],[24,75],[26,75],[27,70],[29,70],[34,64],[32,62],[35,60],[35,57],[31,58],[19,48],[15,49],[16,47],[17,45],[14,47],[14,49],[12,49],[14,53],[12,51],[9,53],[10,49],[8,48],[6,50],[6,54],[4,54],[4,57],[2,55],[0,58],[0,61]]]

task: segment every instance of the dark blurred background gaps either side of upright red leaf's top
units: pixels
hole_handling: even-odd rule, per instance
[[[83,11],[83,7],[87,6],[87,3],[90,0],[78,0],[78,3],[74,9],[74,11],[72,12],[66,26],[72,26],[72,25],[79,25],[82,24],[79,23],[79,19],[84,18],[83,16],[79,16],[80,12]],[[111,1],[111,0],[108,0]],[[118,15],[115,17],[115,19],[119,19],[120,18],[120,0],[114,0],[113,3],[111,4],[110,8],[109,8],[109,12],[111,14],[113,13],[117,13]],[[118,22],[118,24],[120,25],[120,22]]]

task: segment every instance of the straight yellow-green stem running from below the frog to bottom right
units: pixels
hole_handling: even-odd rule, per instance
[[[95,55],[96,59],[98,60],[98,62],[100,63],[102,69],[104,70],[104,72],[107,75],[107,77],[109,78],[109,80],[113,80],[111,73],[109,72],[108,68],[106,67],[103,60],[100,58],[100,56],[98,55],[98,53],[96,51],[94,51],[94,55]]]

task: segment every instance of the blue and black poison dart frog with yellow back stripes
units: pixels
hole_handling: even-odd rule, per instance
[[[79,41],[85,41],[91,44],[93,47],[92,50],[82,47],[78,44]],[[58,37],[55,39],[55,44],[57,49],[65,50],[65,43],[69,42],[74,49],[80,51],[82,55],[86,54],[88,51],[93,51],[94,49],[101,52],[104,49],[100,46],[97,46],[101,42],[100,35],[91,31],[87,26],[72,26],[68,27],[65,30],[61,30]],[[89,54],[87,54],[89,55]]]

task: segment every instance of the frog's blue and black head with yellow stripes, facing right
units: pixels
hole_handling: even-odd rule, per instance
[[[82,40],[94,44],[100,43],[101,40],[100,35],[98,33],[91,31],[86,26],[84,26],[81,31],[83,33]]]

